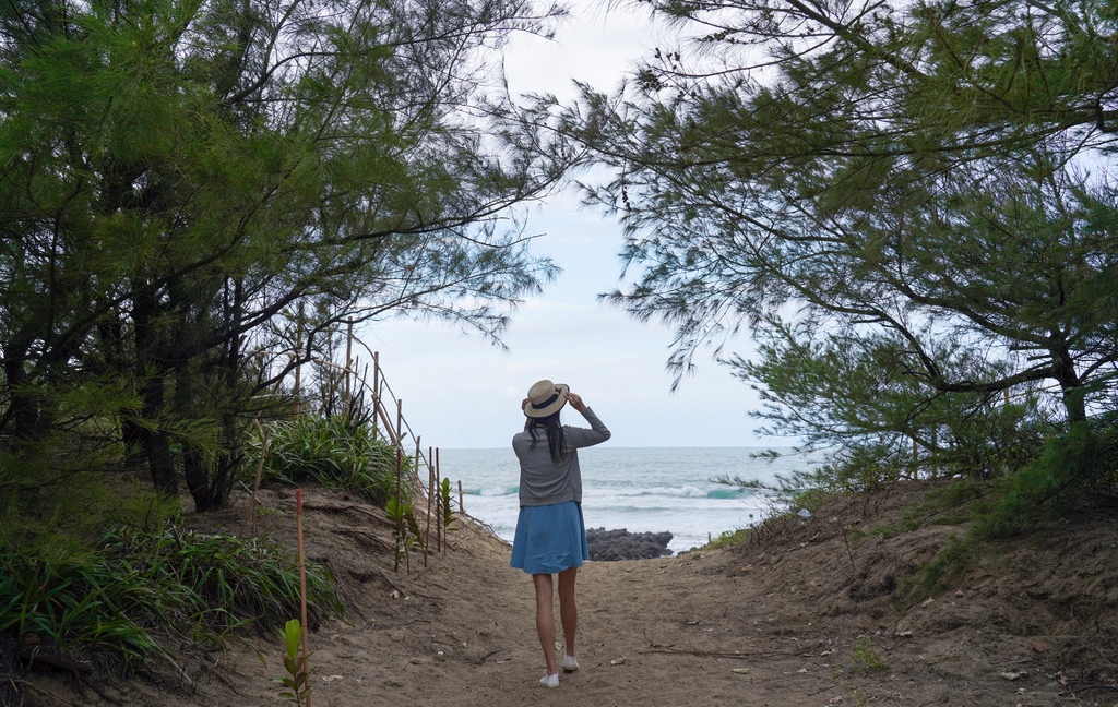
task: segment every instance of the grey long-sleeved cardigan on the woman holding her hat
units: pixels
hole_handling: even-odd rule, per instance
[[[582,503],[582,472],[578,468],[578,449],[593,447],[609,439],[609,430],[589,408],[582,413],[590,429],[562,427],[563,451],[559,464],[551,460],[547,432],[537,430],[536,449],[528,430],[512,438],[512,449],[520,459],[520,505],[550,506],[568,500]]]

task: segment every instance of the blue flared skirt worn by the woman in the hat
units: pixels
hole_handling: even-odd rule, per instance
[[[589,558],[581,504],[520,507],[509,563],[513,567],[529,574],[555,574],[581,567]]]

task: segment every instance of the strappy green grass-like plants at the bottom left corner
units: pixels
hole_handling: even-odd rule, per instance
[[[297,564],[256,539],[129,526],[88,547],[23,537],[0,543],[0,632],[101,650],[125,668],[170,657],[168,633],[220,644],[250,621],[281,625],[300,605]],[[323,613],[342,611],[324,567],[309,567],[307,593]]]

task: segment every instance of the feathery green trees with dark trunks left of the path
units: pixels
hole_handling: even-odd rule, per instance
[[[123,445],[163,490],[184,468],[209,507],[266,414],[260,393],[342,323],[407,313],[498,337],[556,273],[514,208],[572,155],[502,97],[495,51],[561,15],[529,0],[7,3],[11,453],[49,467],[59,436]]]

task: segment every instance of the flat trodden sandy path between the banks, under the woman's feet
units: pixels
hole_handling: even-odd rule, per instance
[[[537,684],[543,671],[533,624],[531,583],[506,566],[508,548],[474,536],[413,580],[419,585],[396,608],[423,605],[360,628],[338,627],[316,648],[315,670],[341,675],[316,687],[316,705],[769,705],[817,691],[814,679],[796,689],[795,673],[779,676],[751,660],[757,651],[740,632],[762,621],[714,601],[702,558],[589,563],[579,576],[579,659],[558,689]],[[738,583],[730,577],[729,585]],[[724,586],[717,587],[724,590]],[[561,632],[560,632],[561,634]],[[796,650],[795,641],[788,641]],[[561,655],[561,653],[560,653]],[[739,672],[735,672],[735,670]],[[748,670],[748,672],[740,672]],[[777,667],[777,672],[779,672]],[[805,676],[805,673],[799,673]],[[806,695],[805,695],[806,697]],[[386,701],[391,698],[391,701]],[[399,701],[397,701],[399,700]]]

